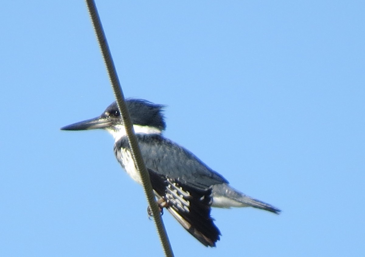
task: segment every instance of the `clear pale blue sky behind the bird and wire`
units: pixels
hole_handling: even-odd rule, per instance
[[[364,1],[97,1],[127,97],[165,136],[283,210],[213,209],[175,256],[365,256]],[[105,131],[59,128],[114,96],[84,1],[5,1],[0,256],[162,256]]]

